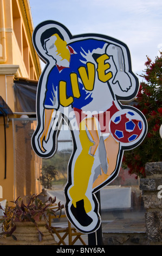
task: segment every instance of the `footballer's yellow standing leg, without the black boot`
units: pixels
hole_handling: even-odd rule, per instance
[[[92,174],[94,153],[99,144],[98,133],[93,127],[94,118],[85,119],[80,123],[79,137],[82,151],[76,159],[74,167],[74,185],[69,190],[69,194],[73,199],[73,205],[76,207],[76,202],[83,199],[86,212],[92,210],[89,199],[86,197],[86,191],[90,175]]]

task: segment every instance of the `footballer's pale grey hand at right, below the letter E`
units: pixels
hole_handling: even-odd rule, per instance
[[[116,82],[119,83],[119,86],[123,92],[128,92],[128,90],[132,86],[131,79],[124,71],[117,71],[113,80],[113,84],[115,84]]]

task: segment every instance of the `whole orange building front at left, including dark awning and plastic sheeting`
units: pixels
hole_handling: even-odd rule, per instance
[[[33,30],[29,0],[0,0],[0,201],[41,191],[41,160],[30,143],[35,109],[22,107],[35,102],[41,74]]]

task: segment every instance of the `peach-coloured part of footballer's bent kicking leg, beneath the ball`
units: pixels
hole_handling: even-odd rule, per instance
[[[104,140],[106,155],[107,155],[107,173],[103,172],[101,168],[101,174],[99,174],[98,178],[93,183],[93,188],[98,187],[103,182],[105,182],[108,177],[114,172],[116,167],[116,162],[119,153],[119,142],[116,142],[115,139],[111,136],[111,134]]]

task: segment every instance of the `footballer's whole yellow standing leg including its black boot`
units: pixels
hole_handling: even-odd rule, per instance
[[[93,130],[93,123],[93,118],[84,119],[80,123],[81,152],[76,159],[73,158],[75,163],[74,172],[72,169],[72,186],[68,191],[71,198],[71,206],[68,205],[68,209],[73,215],[72,220],[75,217],[79,225],[88,227],[89,231],[91,223],[94,228],[99,222],[99,216],[94,212],[95,203],[92,195],[92,184],[89,184],[94,163],[93,154],[99,144],[98,133],[95,129]],[[90,127],[92,127],[92,130],[89,131]]]

